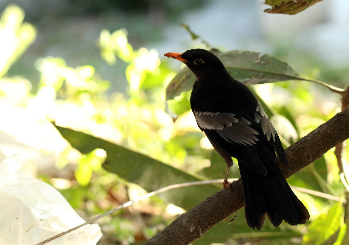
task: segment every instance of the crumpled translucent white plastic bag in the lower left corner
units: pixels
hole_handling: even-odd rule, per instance
[[[0,163],[0,244],[35,245],[85,221],[52,186],[25,177],[19,157]],[[47,244],[94,245],[98,224],[86,225]]]

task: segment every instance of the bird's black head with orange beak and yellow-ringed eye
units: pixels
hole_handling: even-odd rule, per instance
[[[182,61],[198,79],[212,79],[227,74],[216,55],[204,49],[191,49],[184,53],[165,53],[167,57]]]

